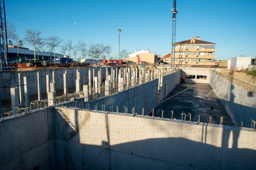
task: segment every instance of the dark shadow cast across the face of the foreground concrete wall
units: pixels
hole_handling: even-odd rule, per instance
[[[202,126],[205,129],[202,131],[202,141],[182,137],[150,138],[111,145],[109,118],[105,114],[107,141],[102,140],[102,145],[88,145],[86,141],[82,142],[87,137],[81,136],[83,134],[80,130],[90,117],[82,119],[77,110],[74,113],[75,117],[72,119],[75,119],[75,124],[63,117],[55,125],[61,128],[59,123],[64,123],[63,137],[56,136],[57,169],[253,169],[256,166],[255,150],[238,148],[239,130],[223,129],[219,147],[207,144],[208,133],[205,126]],[[124,129],[123,133],[125,131]],[[88,138],[100,138],[95,132],[91,133]],[[143,131],[140,133],[143,136]],[[230,134],[233,134],[233,140],[230,139]],[[115,138],[118,140],[118,135]]]

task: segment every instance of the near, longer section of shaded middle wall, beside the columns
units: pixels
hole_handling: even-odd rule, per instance
[[[118,106],[119,112],[124,112],[123,107],[127,107],[127,112],[132,113],[132,108],[135,107],[135,112],[142,114],[142,107],[144,108],[144,114],[150,114],[150,111],[157,107],[157,90],[158,89],[158,79],[152,80],[150,82],[129,88],[127,90],[118,92],[113,95],[105,96],[90,102],[90,109],[94,110],[95,104],[98,106],[98,110],[102,110],[102,104],[105,104],[105,111],[110,111],[110,106],[113,105],[113,110],[116,111],[116,106]],[[80,99],[76,103],[76,107],[79,107],[79,102],[84,101]],[[72,106],[72,104],[71,104]],[[84,104],[86,108],[86,104]]]

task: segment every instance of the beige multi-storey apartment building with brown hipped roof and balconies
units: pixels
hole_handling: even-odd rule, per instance
[[[200,37],[192,37],[190,40],[175,43],[174,64],[176,66],[214,66],[214,52],[215,43],[202,41]]]

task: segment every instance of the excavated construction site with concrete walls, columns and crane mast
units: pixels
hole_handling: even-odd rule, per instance
[[[10,69],[1,35],[0,170],[255,169],[255,78],[177,66],[176,14],[173,0],[173,57],[158,66]]]

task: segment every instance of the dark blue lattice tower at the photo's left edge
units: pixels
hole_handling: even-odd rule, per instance
[[[0,57],[1,57],[1,71],[9,70],[9,56],[8,56],[8,44],[7,44],[7,30],[5,19],[5,7],[4,0],[0,0]],[[7,65],[7,68],[5,67]]]

